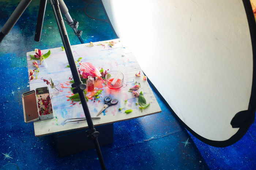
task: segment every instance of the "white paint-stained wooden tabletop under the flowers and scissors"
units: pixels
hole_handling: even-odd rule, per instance
[[[75,60],[82,57],[81,62],[92,63],[99,70],[103,68],[104,71],[107,69],[109,69],[109,71],[117,71],[119,68],[123,68],[122,72],[124,74],[124,80],[127,84],[126,87],[123,87],[118,91],[113,91],[110,90],[110,88],[108,88],[103,81],[97,82],[100,84],[98,90],[102,90],[102,93],[99,95],[100,97],[98,99],[94,100],[93,98],[93,100],[89,100],[89,102],[87,102],[91,117],[95,117],[99,110],[101,110],[104,105],[103,100],[105,96],[111,96],[112,98],[118,99],[118,103],[114,106],[106,108],[106,110],[100,115],[101,119],[93,120],[94,125],[98,126],[161,112],[161,108],[159,107],[159,104],[157,103],[148,82],[143,81],[143,72],[135,59],[132,50],[125,46],[123,41],[120,39],[109,41],[116,42],[113,48],[111,48],[108,43],[104,43],[106,41],[95,42],[95,46],[92,47],[86,46],[89,44],[72,46]],[[106,44],[106,46],[103,47],[98,45],[100,43]],[[71,104],[71,101],[68,101],[68,97],[72,95],[70,89],[71,83],[69,83],[69,77],[72,78],[72,75],[70,68],[65,67],[68,65],[65,51],[63,51],[61,47],[48,50],[51,50],[51,55],[42,62],[41,66],[39,66],[38,78],[30,82],[30,90],[47,86],[42,79],[52,78],[54,85],[57,85],[56,87],[60,90],[60,92],[57,95],[54,95],[53,93],[52,97],[54,118],[34,122],[35,136],[43,136],[61,131],[88,127],[86,121],[64,124],[65,119],[80,118],[85,116],[82,110],[82,105],[79,104],[79,102],[75,102],[76,104],[73,105]],[[48,50],[42,51],[45,54],[48,52]],[[32,62],[35,60],[30,60],[30,54],[34,55],[35,52],[27,52],[28,71],[34,70],[35,68],[32,65]],[[135,76],[135,74],[139,71],[141,72],[141,76]],[[140,111],[139,105],[136,106],[135,104],[138,103],[138,98],[133,96],[132,92],[128,92],[129,88],[133,87],[135,82],[141,84],[140,89],[137,91],[142,91],[147,103],[150,103],[150,106],[144,109],[143,112]],[[90,92],[88,92],[86,96],[89,95]],[[125,100],[127,100],[126,104]],[[123,107],[123,110],[119,111],[118,108],[121,107]],[[124,111],[129,109],[133,111],[130,114],[125,114]]]

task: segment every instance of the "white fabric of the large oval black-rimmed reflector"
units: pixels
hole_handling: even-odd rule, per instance
[[[178,117],[224,141],[248,109],[253,57],[241,0],[102,0],[118,36]]]

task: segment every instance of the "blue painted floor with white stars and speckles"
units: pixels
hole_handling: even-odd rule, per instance
[[[0,0],[0,28],[19,0]],[[99,1],[65,0],[79,21],[85,42],[117,38]],[[32,1],[0,44],[0,167],[19,169],[100,169],[94,149],[59,158],[52,136],[35,137],[33,124],[23,122],[21,94],[29,91],[26,52],[62,46],[48,3],[41,41],[34,41],[39,1]],[[67,27],[72,45],[80,44]],[[254,169],[255,123],[241,141],[226,148],[208,146],[189,135],[155,94],[162,113],[114,123],[114,143],[102,146],[107,169]],[[192,137],[192,139],[191,139]],[[184,142],[188,140],[186,145]],[[194,142],[195,143],[194,143]],[[5,154],[5,155],[4,155]],[[9,164],[9,165],[7,165]],[[3,168],[4,169],[4,168]]]

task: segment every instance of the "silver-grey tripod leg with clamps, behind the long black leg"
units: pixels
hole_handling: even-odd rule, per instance
[[[82,31],[81,30],[78,30],[78,21],[74,21],[72,19],[72,17],[70,16],[70,14],[68,13],[68,8],[66,6],[66,4],[64,3],[63,0],[59,0],[59,7],[60,7],[60,11],[61,13],[63,13],[65,15],[65,17],[67,18],[67,21],[68,21],[68,25],[73,28],[74,30],[74,33],[76,36],[78,36],[78,39],[80,40],[81,44],[84,43],[81,35],[82,35]]]

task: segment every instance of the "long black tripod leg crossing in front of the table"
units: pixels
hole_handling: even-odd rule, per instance
[[[103,161],[103,157],[101,154],[101,149],[99,148],[98,139],[97,139],[99,133],[94,129],[93,120],[91,119],[90,111],[89,111],[89,108],[86,103],[86,99],[85,99],[84,92],[83,92],[83,90],[86,87],[84,87],[85,85],[82,84],[78,70],[76,68],[75,59],[74,59],[74,56],[73,56],[73,53],[71,50],[71,46],[69,43],[69,39],[68,39],[68,34],[67,34],[67,31],[65,28],[63,18],[61,16],[61,12],[60,12],[60,8],[59,8],[59,1],[58,0],[50,0],[50,3],[52,4],[52,7],[53,7],[53,12],[54,12],[54,15],[55,15],[58,27],[59,27],[59,31],[60,31],[60,36],[61,36],[61,39],[63,42],[63,46],[65,48],[65,52],[67,55],[71,73],[74,78],[75,83],[72,84],[72,87],[75,87],[75,89],[73,90],[73,92],[79,94],[79,97],[80,97],[80,100],[82,103],[82,107],[83,107],[83,111],[84,111],[84,115],[86,117],[87,124],[90,129],[90,130],[88,130],[87,133],[89,134],[89,137],[91,137],[94,141],[95,149],[97,150],[99,161],[101,163],[101,168],[106,169],[105,163]]]

